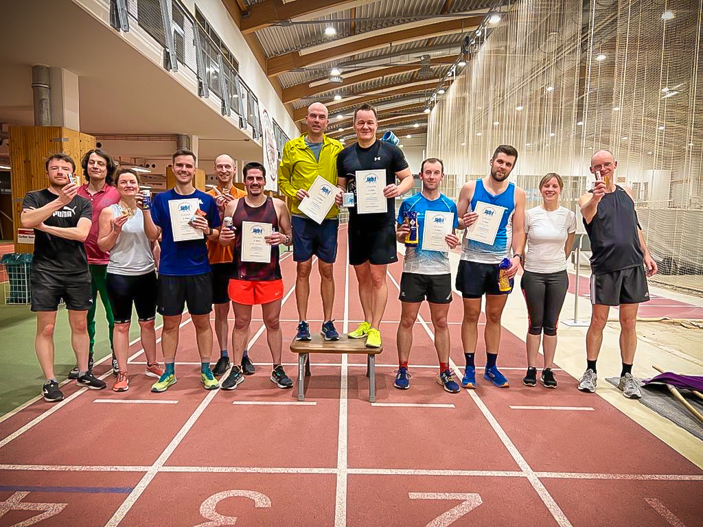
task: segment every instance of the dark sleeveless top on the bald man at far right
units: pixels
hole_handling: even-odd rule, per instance
[[[635,203],[624,188],[615,186],[614,192],[605,193],[591,223],[584,218],[583,225],[591,240],[594,275],[643,264]]]

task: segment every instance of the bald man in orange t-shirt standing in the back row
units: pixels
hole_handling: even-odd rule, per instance
[[[215,159],[215,175],[217,176],[217,186],[207,191],[214,197],[220,220],[224,214],[224,209],[231,200],[247,195],[245,190],[239,190],[232,186],[234,178],[234,160],[226,154],[217,156]],[[227,287],[231,275],[232,247],[224,247],[218,240],[207,240],[207,259],[212,268],[212,303],[215,311],[215,334],[220,346],[220,358],[212,369],[213,375],[221,377],[231,365],[229,353],[227,351],[227,339],[229,335],[229,295]],[[254,373],[254,365],[244,351],[242,358],[242,371],[245,375]]]

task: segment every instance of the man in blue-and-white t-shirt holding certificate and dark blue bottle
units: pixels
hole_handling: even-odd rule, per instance
[[[459,226],[456,204],[439,192],[444,164],[436,157],[423,161],[420,180],[423,190],[408,197],[398,212],[396,240],[405,243],[403,275],[400,280],[402,307],[396,341],[398,375],[394,386],[410,388],[408,359],[413,346],[413,325],[420,304],[427,299],[434,327],[434,347],[439,359],[437,384],[445,391],[460,391],[449,367],[449,327],[446,315],[451,303],[451,268],[447,251],[459,245],[454,229]]]

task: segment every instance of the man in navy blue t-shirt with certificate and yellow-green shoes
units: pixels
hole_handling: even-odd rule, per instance
[[[157,310],[164,318],[161,350],[165,371],[151,391],[166,391],[176,384],[174,363],[185,304],[195,326],[202,384],[212,390],[219,388],[219,383],[210,370],[212,278],[205,238],[219,238],[220,219],[212,196],[193,186],[195,154],[180,148],[172,160],[176,186],[157,195],[150,207],[144,208],[143,198],[137,197],[144,208],[146,235],[150,240],[161,236]]]

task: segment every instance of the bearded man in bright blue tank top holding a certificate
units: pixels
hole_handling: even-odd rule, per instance
[[[461,322],[461,342],[466,368],[461,385],[476,388],[474,355],[478,340],[478,322],[481,298],[486,295],[486,369],[484,378],[498,388],[510,384],[496,367],[501,346],[501,315],[505,301],[512,291],[512,280],[501,287],[501,269],[505,259],[510,266],[503,270],[504,278],[512,279],[520,268],[524,249],[525,193],[508,176],[517,161],[517,150],[500,145],[491,157],[491,174],[477,181],[469,181],[459,194],[459,228],[466,228],[461,257],[456,275],[456,288],[464,300],[464,318]],[[480,214],[479,214],[480,213]],[[498,223],[498,219],[500,222]],[[496,218],[491,221],[491,218]],[[477,223],[478,222],[478,223]],[[495,223],[498,223],[497,230]],[[471,226],[477,224],[474,229]],[[493,233],[495,232],[495,235]],[[503,280],[507,282],[507,280]]]

